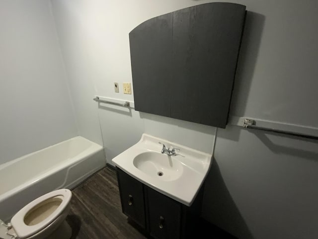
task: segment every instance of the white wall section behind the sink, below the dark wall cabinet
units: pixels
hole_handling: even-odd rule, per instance
[[[197,150],[212,153],[215,127],[155,116],[119,107],[99,108],[106,160],[137,143],[142,133],[148,133]]]

